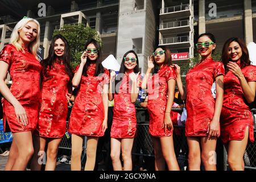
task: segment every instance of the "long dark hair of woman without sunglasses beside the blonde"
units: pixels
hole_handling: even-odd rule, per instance
[[[64,55],[63,55],[63,62],[65,66],[65,71],[68,73],[69,81],[72,81],[73,72],[70,65],[70,51],[68,46],[67,39],[64,38],[64,36],[57,34],[53,36],[51,46],[49,47],[48,57],[44,59],[41,64],[44,68],[44,73],[46,73],[47,68],[52,69],[52,66],[56,60],[56,55],[54,53],[54,44],[57,39],[61,39],[65,43],[65,49],[64,49]]]

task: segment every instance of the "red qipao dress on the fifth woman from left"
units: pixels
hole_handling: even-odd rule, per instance
[[[163,65],[158,73],[148,79],[147,110],[150,116],[149,133],[152,137],[170,137],[172,131],[164,133],[163,122],[167,105],[168,80],[176,80],[173,67]]]

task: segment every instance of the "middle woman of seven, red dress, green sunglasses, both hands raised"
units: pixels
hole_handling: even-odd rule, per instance
[[[114,73],[114,74],[113,74]],[[135,74],[136,73],[136,74]],[[139,92],[139,62],[134,51],[128,51],[123,55],[121,68],[117,78],[115,72],[111,73],[109,84],[109,100],[114,98],[113,123],[111,127],[111,158],[114,171],[122,171],[120,150],[122,150],[123,170],[133,169],[131,161],[131,149],[136,133],[137,119],[134,102]],[[118,89],[112,92],[112,82],[116,81]]]

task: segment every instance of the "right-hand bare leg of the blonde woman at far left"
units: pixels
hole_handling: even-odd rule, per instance
[[[12,171],[24,171],[27,163],[34,154],[31,131],[13,134],[16,146],[18,147],[18,157],[16,158]]]

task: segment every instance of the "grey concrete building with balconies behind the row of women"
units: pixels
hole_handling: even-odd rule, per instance
[[[216,36],[219,52],[232,36],[256,42],[256,0],[1,0],[0,49],[23,16],[39,21],[44,57],[53,30],[85,23],[101,35],[103,58],[112,54],[121,63],[123,54],[134,49],[142,72],[157,45],[170,48],[174,63],[188,63],[204,32]]]

